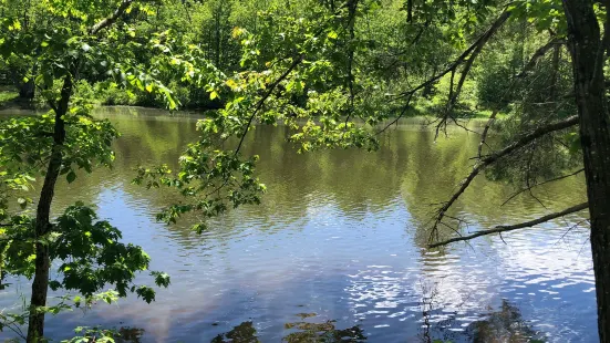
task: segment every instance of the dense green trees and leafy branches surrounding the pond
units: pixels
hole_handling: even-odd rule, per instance
[[[482,121],[469,173],[453,194],[436,199],[426,225],[430,249],[588,209],[599,339],[610,342],[609,6],[0,1],[0,106],[39,113],[0,122],[0,268],[3,278],[32,280],[25,310],[2,312],[0,328],[27,326],[21,336],[41,342],[48,313],[130,293],[155,299],[153,287],[134,283],[151,257],[123,242],[121,228],[80,199],[61,214],[51,210],[60,178],[73,183],[114,162],[120,132],[92,110],[130,105],[200,113],[197,139],[175,170],[159,165],[134,173],[144,188],[182,196],[157,220],[197,216],[193,230],[199,233],[211,218],[265,200],[258,156],[244,153],[257,125],[285,125],[299,152],[317,154],[374,152],[406,117],[425,117],[435,141],[451,135],[448,127],[469,132],[467,121]],[[588,202],[540,218],[466,235],[453,211],[476,177],[513,185],[514,197],[579,174]],[[38,195],[30,198],[24,194],[34,184]],[[58,273],[53,261],[61,261]],[[151,274],[157,287],[169,285],[166,272]],[[80,295],[49,305],[50,289]]]

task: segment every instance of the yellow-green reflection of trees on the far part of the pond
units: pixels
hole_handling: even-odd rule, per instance
[[[100,114],[113,121],[123,133],[114,145],[114,169],[111,173],[100,169],[77,178],[69,187],[63,187],[70,191],[60,191],[59,202],[62,206],[63,202],[72,204],[74,197],[87,204],[94,202],[104,186],[111,185],[133,198],[132,201],[146,204],[152,211],[179,202],[182,198],[169,189],[146,190],[131,185],[135,176],[133,168],[138,164],[154,166],[164,163],[175,167],[185,146],[198,136],[195,129],[197,117],[152,115],[141,110],[133,114],[124,114],[124,108],[116,111],[120,115],[114,115],[111,110]],[[300,155],[286,142],[288,135],[289,131],[283,126],[259,126],[246,137],[242,153],[261,156],[257,172],[261,181],[269,186],[269,193],[262,205],[244,207],[223,222],[211,222],[215,230],[230,230],[236,222],[248,220],[268,224],[259,225],[260,228],[280,221],[286,227],[285,224],[307,219],[312,207],[328,205],[358,220],[368,212],[395,206],[395,200],[400,199],[404,200],[411,215],[416,243],[424,247],[428,238],[425,224],[436,209],[430,204],[446,200],[469,169],[469,158],[478,145],[477,136],[461,132],[435,143],[432,132],[393,131],[381,137],[381,148],[375,153],[334,149]],[[473,214],[466,217],[475,226],[477,222],[508,222],[542,210],[527,197],[518,197],[509,206],[499,207],[513,194],[513,187],[486,183],[484,177],[471,188],[454,206],[452,215]],[[582,194],[581,188],[579,179],[550,184],[545,188],[550,194],[569,196],[549,199],[548,202],[544,194],[541,198],[550,209],[564,208],[577,200],[575,195]],[[488,218],[494,220],[489,222]],[[189,219],[195,220],[185,218],[184,226],[168,228],[184,237],[180,242],[185,245],[190,239]]]

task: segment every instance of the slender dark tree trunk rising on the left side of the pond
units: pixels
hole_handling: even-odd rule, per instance
[[[44,184],[40,191],[40,200],[37,207],[37,220],[34,233],[37,238],[44,238],[52,228],[51,225],[51,204],[55,193],[55,184],[60,175],[63,163],[63,143],[65,142],[65,122],[63,115],[68,113],[68,103],[72,95],[72,79],[65,76],[61,91],[61,100],[54,107],[55,125],[53,129],[53,147]],[[49,246],[45,243],[35,243],[35,271],[32,282],[32,297],[30,300],[30,318],[28,323],[28,343],[41,342],[44,336],[44,312],[37,309],[46,305],[46,292],[49,289],[49,269],[51,261],[49,259]]]

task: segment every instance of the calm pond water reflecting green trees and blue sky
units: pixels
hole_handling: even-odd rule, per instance
[[[197,135],[196,119],[125,108],[100,115],[123,134],[114,168],[62,181],[55,209],[95,204],[125,241],[151,254],[152,269],[172,276],[172,285],[151,305],[130,298],[49,316],[53,339],[102,324],[141,328],[143,342],[597,341],[588,229],[573,227],[582,214],[504,241],[426,250],[430,204],[446,200],[464,177],[476,135],[454,132],[434,143],[433,133],[403,125],[376,153],[298,155],[283,127],[259,127],[245,153],[261,156],[263,204],[231,211],[197,236],[189,222],[155,222],[177,197],[131,185],[138,164],[175,164]],[[527,197],[500,207],[513,191],[480,178],[456,214],[476,230],[585,198],[575,178],[537,190],[546,209]],[[19,308],[28,287],[0,293],[0,305]]]

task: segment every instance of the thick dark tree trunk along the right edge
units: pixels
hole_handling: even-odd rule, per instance
[[[592,0],[564,0],[572,56],[580,141],[591,216],[600,342],[610,342],[610,126],[603,61],[606,44]],[[607,23],[608,24],[608,23]],[[610,33],[606,31],[607,33]]]

